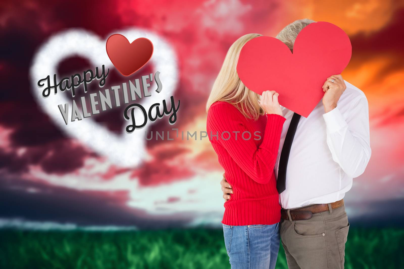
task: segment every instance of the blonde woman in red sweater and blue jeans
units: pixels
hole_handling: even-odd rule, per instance
[[[279,250],[274,165],[285,118],[276,92],[260,100],[236,71],[242,46],[258,36],[231,45],[206,104],[208,136],[233,189],[222,221],[231,268],[275,268]]]

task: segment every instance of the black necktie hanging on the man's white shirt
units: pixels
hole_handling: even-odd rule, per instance
[[[292,147],[293,138],[295,137],[297,125],[299,124],[300,115],[294,113],[290,121],[288,132],[286,133],[285,142],[279,158],[278,180],[276,181],[276,189],[281,194],[286,189],[286,167],[288,166],[290,148]]]

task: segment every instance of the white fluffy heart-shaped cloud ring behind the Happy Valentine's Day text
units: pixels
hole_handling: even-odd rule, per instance
[[[121,33],[129,41],[147,38],[154,44],[154,55],[151,62],[155,71],[161,72],[160,80],[163,90],[159,94],[155,93],[142,98],[141,104],[148,111],[152,104],[161,102],[163,99],[170,103],[170,96],[173,95],[178,80],[177,57],[170,44],[157,34],[144,29],[130,28],[114,33]],[[145,148],[145,132],[154,122],[147,121],[143,129],[136,130],[131,134],[127,134],[123,128],[121,135],[112,133],[91,118],[65,125],[58,105],[72,102],[66,97],[67,92],[58,92],[55,95],[50,94],[48,98],[43,98],[42,89],[37,85],[38,80],[48,75],[52,77],[53,74],[57,74],[58,64],[63,59],[72,56],[87,58],[93,67],[105,65],[105,69],[113,68],[105,51],[105,43],[106,40],[102,40],[94,33],[83,29],[69,29],[53,35],[42,44],[34,56],[30,68],[32,91],[43,111],[69,136],[78,139],[117,165],[137,166],[148,157]],[[57,76],[57,80],[59,81],[60,77]],[[127,82],[127,79],[122,77],[122,82]],[[160,109],[162,112],[162,107]],[[135,118],[141,119],[142,117],[141,111],[135,110]]]

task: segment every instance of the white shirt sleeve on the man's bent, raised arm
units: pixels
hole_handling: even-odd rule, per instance
[[[327,144],[332,159],[347,175],[358,177],[368,165],[370,150],[369,108],[361,96],[345,119],[338,108],[323,115],[327,126]]]

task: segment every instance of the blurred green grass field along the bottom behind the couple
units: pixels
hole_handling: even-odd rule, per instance
[[[345,268],[404,268],[404,229],[349,230]],[[0,268],[230,268],[217,229],[0,230]],[[281,246],[276,268],[287,268]]]

